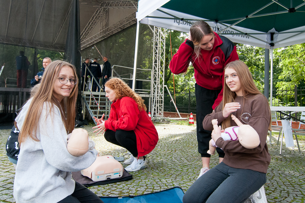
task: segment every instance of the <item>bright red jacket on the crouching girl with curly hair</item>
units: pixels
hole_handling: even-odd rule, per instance
[[[138,156],[142,157],[155,148],[159,137],[155,126],[145,111],[139,111],[134,99],[123,97],[111,104],[109,119],[105,121],[106,129],[135,132]]]

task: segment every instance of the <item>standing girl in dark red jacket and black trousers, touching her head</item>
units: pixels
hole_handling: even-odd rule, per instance
[[[196,124],[198,152],[202,157],[202,168],[198,178],[210,168],[209,141],[211,131],[203,129],[204,117],[212,113],[221,102],[224,82],[224,67],[238,60],[236,46],[229,39],[213,32],[209,24],[200,20],[190,28],[190,35],[179,47],[170,61],[173,74],[186,72],[190,62],[195,69]],[[224,152],[217,148],[219,162]]]

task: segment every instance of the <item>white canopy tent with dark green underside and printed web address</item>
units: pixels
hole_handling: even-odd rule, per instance
[[[206,0],[192,2],[140,0],[137,12],[133,84],[135,85],[136,78],[140,23],[189,32],[192,22],[205,20],[217,34],[225,35],[232,42],[271,50],[270,89],[272,90],[272,50],[305,42],[305,0],[235,0],[234,2],[218,0],[215,4],[217,5],[214,6],[213,1]],[[192,15],[193,13],[199,15]],[[272,91],[270,92],[270,105],[272,106]]]

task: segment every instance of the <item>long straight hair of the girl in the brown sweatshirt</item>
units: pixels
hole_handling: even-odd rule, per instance
[[[226,68],[233,68],[240,81],[240,85],[242,87],[242,95],[244,95],[244,99],[246,98],[246,95],[248,94],[262,94],[254,84],[251,72],[249,71],[248,66],[242,62],[242,61],[232,61],[224,67],[224,71]],[[224,79],[224,92],[222,97],[222,110],[224,110],[224,106],[227,103],[231,103],[235,101],[236,93],[232,92],[228,85],[226,84],[226,80]],[[268,100],[265,97],[267,103]],[[244,102],[245,104],[245,102]],[[269,124],[269,130],[271,131],[271,111],[269,108],[270,113],[270,124]],[[231,127],[231,113],[230,115],[221,122],[222,129],[225,129],[227,127]]]

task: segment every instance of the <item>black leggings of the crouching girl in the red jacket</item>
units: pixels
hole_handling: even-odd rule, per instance
[[[108,142],[127,149],[132,156],[138,156],[137,137],[135,131],[106,130],[104,137]]]

